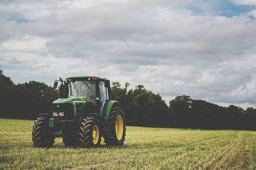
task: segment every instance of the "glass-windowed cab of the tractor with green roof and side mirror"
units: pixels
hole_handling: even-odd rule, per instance
[[[63,99],[73,102],[74,99],[84,101],[86,103],[86,112],[97,113],[103,115],[104,107],[108,101],[111,101],[110,83],[106,78],[97,76],[71,76],[63,81],[54,81],[54,88],[59,87],[60,99],[55,103],[61,104]],[[67,102],[66,102],[67,103]]]

